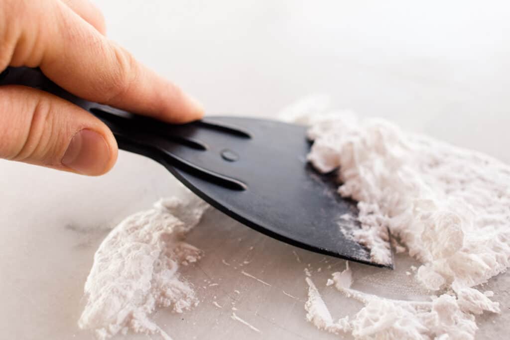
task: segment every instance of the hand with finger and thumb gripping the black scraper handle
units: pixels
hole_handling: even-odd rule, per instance
[[[108,39],[105,27],[88,0],[1,0],[0,71],[39,67],[79,97],[166,122],[202,117],[197,101]],[[109,128],[85,110],[37,89],[0,86],[0,158],[101,175],[117,150]]]

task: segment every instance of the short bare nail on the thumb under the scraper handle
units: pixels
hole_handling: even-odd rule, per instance
[[[83,129],[75,134],[62,158],[62,164],[84,175],[102,174],[110,161],[110,147],[103,136]]]

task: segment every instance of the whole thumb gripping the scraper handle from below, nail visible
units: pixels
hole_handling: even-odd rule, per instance
[[[0,158],[101,175],[117,159],[117,142],[99,119],[52,94],[0,87]]]

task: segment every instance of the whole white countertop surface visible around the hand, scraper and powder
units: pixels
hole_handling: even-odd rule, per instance
[[[201,99],[208,114],[271,117],[326,93],[335,108],[510,162],[508,8],[404,0],[96,3],[111,38]],[[92,339],[77,320],[97,246],[124,217],[182,189],[157,163],[126,152],[98,178],[6,161],[0,174],[0,337]],[[361,307],[324,286],[345,261],[279,243],[219,212],[207,213],[188,241],[206,252],[184,270],[201,303],[183,315],[155,316],[176,340],[339,338],[304,320],[308,264],[335,318]],[[250,263],[241,267],[244,260]],[[394,272],[353,265],[354,287],[387,297],[422,294],[404,274],[409,265],[403,257]],[[508,274],[487,285],[503,312],[477,318],[478,338],[510,331],[508,287]],[[232,303],[261,334],[230,318]]]

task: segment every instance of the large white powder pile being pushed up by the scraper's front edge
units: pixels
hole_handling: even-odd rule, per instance
[[[391,260],[389,231],[423,263],[417,278],[431,290],[510,266],[509,166],[380,119],[325,119],[309,137],[314,167],[340,168],[339,194],[359,202],[354,237],[377,262]]]

